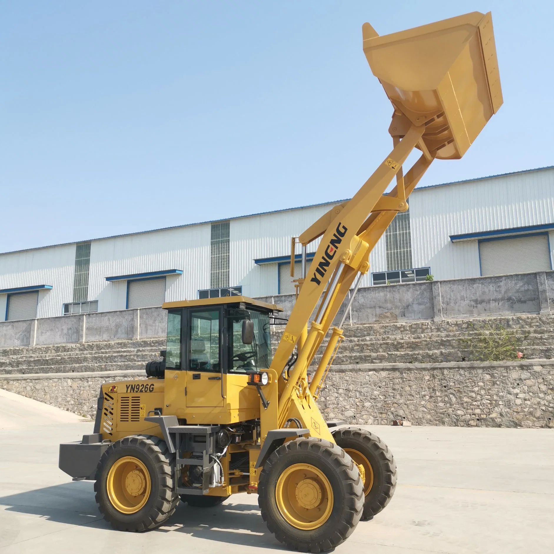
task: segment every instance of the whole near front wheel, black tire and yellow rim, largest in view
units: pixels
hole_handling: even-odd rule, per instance
[[[277,540],[302,552],[326,552],[360,521],[363,486],[344,450],[327,440],[299,438],[266,460],[258,503]]]

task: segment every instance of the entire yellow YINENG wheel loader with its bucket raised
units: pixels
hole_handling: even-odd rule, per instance
[[[393,149],[350,201],[292,239],[291,268],[300,244],[302,276],[275,353],[279,306],[244,296],[166,302],[162,361],[147,364],[146,379],[102,385],[94,433],[60,445],[60,468],[95,481],[115,529],[155,529],[180,500],[208,507],[252,493],[279,541],[321,552],[391,500],[397,474],[387,446],[317,408],[343,338],[340,308],[351,291],[348,312],[372,248],[433,160],[461,158],[502,93],[490,13],[383,37],[366,23],[362,34],[393,105]],[[404,175],[414,148],[421,156]],[[307,273],[306,248],[317,239]]]

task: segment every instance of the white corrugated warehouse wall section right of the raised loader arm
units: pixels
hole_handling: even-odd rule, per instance
[[[416,189],[408,203],[414,267],[430,266],[435,279],[478,277],[477,241],[449,235],[553,223],[554,168]]]

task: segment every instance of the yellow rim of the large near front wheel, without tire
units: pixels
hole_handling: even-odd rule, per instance
[[[288,524],[310,531],[329,519],[333,489],[320,469],[310,464],[294,464],[279,476],[275,500]]]

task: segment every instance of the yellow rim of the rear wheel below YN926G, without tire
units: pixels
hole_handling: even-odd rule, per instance
[[[116,460],[107,474],[107,495],[122,514],[135,514],[150,496],[150,473],[134,456]]]

